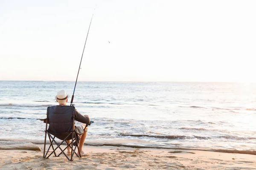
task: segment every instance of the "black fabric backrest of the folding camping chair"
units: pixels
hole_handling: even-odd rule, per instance
[[[74,119],[76,108],[73,106],[51,106],[47,108],[49,120],[48,130],[55,134],[71,132],[74,130]]]

